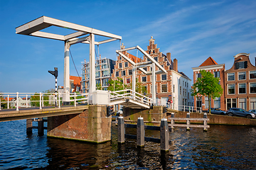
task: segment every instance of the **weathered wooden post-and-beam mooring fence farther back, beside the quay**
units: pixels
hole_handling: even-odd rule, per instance
[[[210,128],[210,126],[207,125],[207,121],[210,120],[207,118],[207,113],[203,114],[203,118],[191,118],[190,113],[187,113],[186,118],[174,118],[174,113],[171,113],[169,120],[171,122],[171,124],[169,124],[171,130],[173,130],[174,127],[186,127],[186,130],[190,130],[190,128],[203,128],[203,131],[206,132],[207,128]],[[186,124],[177,124],[174,120],[186,120]],[[191,120],[203,121],[203,125],[191,125]]]

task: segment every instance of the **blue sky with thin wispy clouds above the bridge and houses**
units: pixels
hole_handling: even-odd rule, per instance
[[[208,57],[233,65],[234,55],[256,57],[256,1],[12,1],[0,0],[0,91],[39,92],[54,89],[48,73],[58,67],[58,85],[63,86],[64,42],[17,35],[15,28],[40,16],[77,23],[122,36],[126,47],[144,50],[154,37],[160,51],[171,52],[178,71],[193,79],[191,67]],[[50,33],[70,30],[48,29]],[[119,41],[100,45],[102,57],[116,60]],[[89,60],[89,45],[70,47],[75,65]],[[136,53],[136,52],[135,52]],[[138,57],[142,57],[139,54]],[[70,57],[70,75],[78,76]]]

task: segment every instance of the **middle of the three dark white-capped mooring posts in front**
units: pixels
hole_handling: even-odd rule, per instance
[[[144,147],[145,145],[145,126],[142,117],[137,121],[137,146]]]

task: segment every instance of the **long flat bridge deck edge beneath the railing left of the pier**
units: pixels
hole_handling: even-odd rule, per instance
[[[63,108],[43,108],[43,109],[27,109],[21,111],[1,111],[0,122],[10,120],[21,120],[28,118],[43,118],[56,115],[70,115],[75,113],[82,113],[87,110],[88,105],[82,106],[67,106]]]

